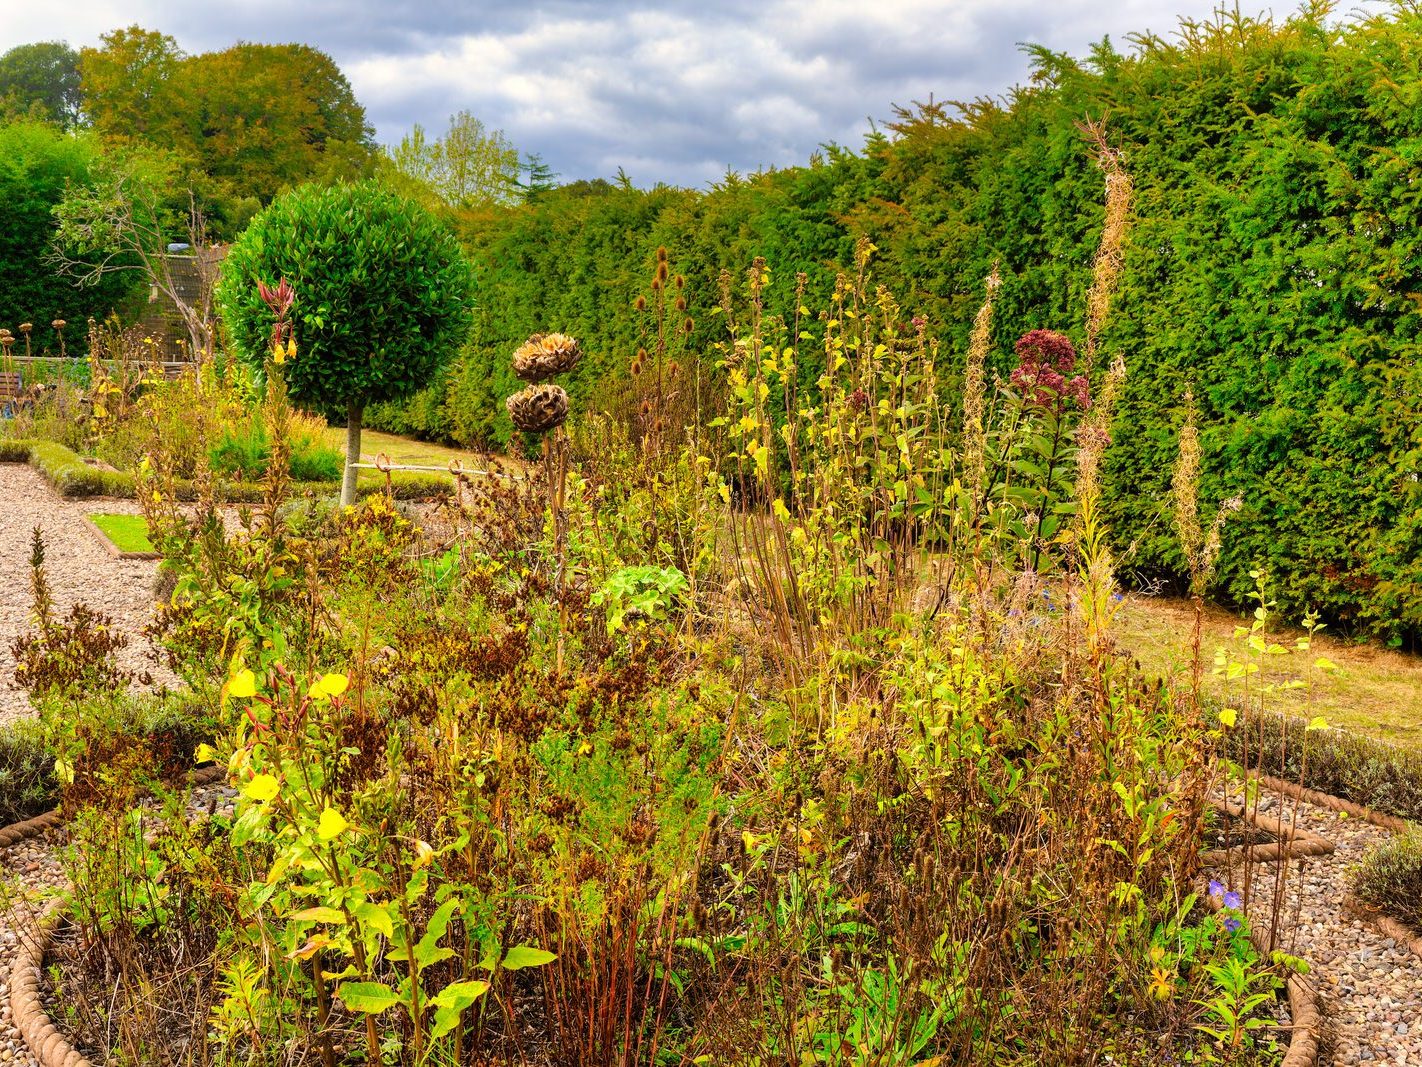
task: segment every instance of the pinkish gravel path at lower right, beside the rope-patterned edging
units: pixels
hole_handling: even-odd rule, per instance
[[[1310,979],[1324,997],[1324,1017],[1334,1036],[1332,1063],[1335,1067],[1418,1067],[1422,1064],[1422,957],[1345,909],[1351,869],[1389,832],[1327,808],[1297,804],[1298,825],[1328,838],[1337,851],[1290,861],[1285,935],[1280,947],[1308,960],[1313,967]],[[1280,805],[1278,797],[1266,795],[1260,812],[1288,819],[1294,805],[1293,800]],[[1268,922],[1278,872],[1277,864],[1256,868],[1250,911],[1257,923]],[[1223,881],[1223,872],[1214,876]]]

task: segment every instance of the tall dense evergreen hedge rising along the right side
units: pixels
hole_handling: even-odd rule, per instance
[[[1078,122],[1108,117],[1136,184],[1105,334],[1130,378],[1111,451],[1109,518],[1139,580],[1183,570],[1169,519],[1182,398],[1202,414],[1209,509],[1239,495],[1216,596],[1268,573],[1288,615],[1318,607],[1396,642],[1422,632],[1422,11],[1338,24],[1226,13],[1129,54],[1037,51],[1031,83],[961,112],[900,112],[862,151],[693,192],[579,182],[468,212],[474,343],[435,387],[371,425],[506,447],[508,356],[533,330],[577,336],[579,410],[613,396],[647,322],[656,249],[688,279],[693,344],[724,336],[722,269],[774,272],[771,307],[811,303],[850,263],[927,316],[954,381],[983,279],[1000,263],[995,368],[1037,327],[1081,341],[1102,181]],[[813,344],[806,346],[813,350]],[[818,368],[806,366],[812,380]]]

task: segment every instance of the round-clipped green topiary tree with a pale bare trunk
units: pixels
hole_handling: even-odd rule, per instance
[[[373,182],[303,185],[233,243],[218,307],[237,356],[272,351],[273,312],[257,282],[290,282],[293,400],[346,411],[341,504],[356,498],[365,405],[427,386],[469,330],[474,276],[454,236],[414,201]]]

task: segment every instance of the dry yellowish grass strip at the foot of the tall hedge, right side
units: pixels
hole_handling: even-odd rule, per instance
[[[1241,649],[1241,642],[1233,636],[1234,627],[1249,623],[1249,619],[1223,607],[1206,606],[1200,637],[1206,691],[1216,696],[1230,691],[1223,679],[1210,674],[1214,649],[1221,644],[1231,650]],[[1148,671],[1177,673],[1185,680],[1190,670],[1193,627],[1194,606],[1189,600],[1128,596],[1116,615],[1115,633]],[[1288,649],[1301,633],[1287,626],[1271,629],[1271,640]],[[1314,660],[1318,657],[1332,660],[1340,670],[1331,674],[1317,669]],[[1236,654],[1234,659],[1243,657]],[[1305,690],[1264,696],[1266,707],[1308,717],[1324,716],[1330,726],[1422,750],[1422,657],[1320,635],[1307,653],[1267,656],[1266,660],[1273,673],[1264,679],[1266,684],[1288,677],[1308,683]],[[1239,683],[1230,686],[1237,687]],[[1233,693],[1239,694],[1239,690]]]

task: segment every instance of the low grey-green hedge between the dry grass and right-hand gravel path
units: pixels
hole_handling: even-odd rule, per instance
[[[1422,822],[1422,753],[1348,730],[1305,731],[1307,718],[1274,711],[1240,716],[1226,733],[1226,754],[1250,770],[1301,781],[1386,815]]]

